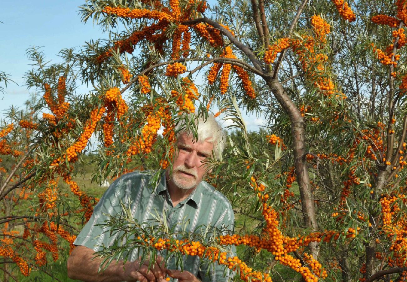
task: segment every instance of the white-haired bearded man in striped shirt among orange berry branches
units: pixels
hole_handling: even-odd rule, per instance
[[[184,281],[228,281],[224,277],[224,266],[208,266],[197,256],[184,257],[184,271],[175,270],[173,261],[164,267],[162,257],[158,257],[151,269],[148,262],[142,264],[138,250],[133,251],[128,262],[112,262],[103,272],[98,272],[101,258],[94,257],[95,251],[113,244],[116,236],[110,237],[102,226],[96,226],[122,211],[120,201],[130,199],[127,205],[139,223],[154,220],[153,214],[162,215],[169,228],[176,231],[184,228],[193,232],[200,225],[214,226],[219,229],[233,229],[234,214],[225,196],[205,181],[208,172],[204,161],[212,156],[218,157],[223,148],[224,134],[213,116],[197,119],[198,140],[193,140],[190,132],[177,135],[177,155],[174,156],[173,170],[162,174],[161,181],[152,193],[147,187],[149,175],[140,172],[125,174],[107,189],[89,222],[83,227],[75,240],[77,247],[68,258],[68,275],[70,278],[84,281],[165,281],[169,275]],[[181,222],[187,224],[181,225]],[[232,248],[231,255],[234,256]],[[208,269],[209,267],[209,269]],[[167,269],[168,268],[168,269]],[[231,275],[229,269],[227,275]]]

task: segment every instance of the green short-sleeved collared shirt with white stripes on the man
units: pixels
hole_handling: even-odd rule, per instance
[[[83,227],[74,245],[82,245],[94,251],[102,250],[103,246],[112,246],[121,234],[110,236],[110,232],[105,232],[108,227],[96,225],[103,224],[110,216],[122,214],[121,203],[131,210],[133,218],[137,219],[140,225],[151,225],[154,222],[157,224],[155,217],[158,216],[163,221],[165,215],[168,228],[174,228],[175,231],[193,234],[194,230],[200,230],[201,234],[204,234],[206,227],[214,226],[219,229],[226,228],[224,235],[233,232],[234,214],[229,200],[205,181],[199,183],[188,198],[173,207],[165,173],[161,175],[155,192],[148,187],[150,179],[151,175],[146,172],[131,172],[114,181],[95,206],[90,220]],[[135,249],[129,254],[129,260],[134,261],[138,256],[138,250]],[[236,256],[235,246],[230,248],[228,256]],[[217,263],[208,269],[208,265],[201,262],[198,256],[183,256],[182,259],[184,270],[193,273],[202,281],[229,281],[228,277],[233,275],[229,269]],[[175,259],[167,261],[167,269],[177,269]]]

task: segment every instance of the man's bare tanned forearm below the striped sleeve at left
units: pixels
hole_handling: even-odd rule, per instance
[[[123,281],[123,262],[113,260],[105,271],[100,271],[99,267],[102,258],[93,255],[94,250],[84,246],[77,246],[68,258],[68,276],[72,279],[95,282],[116,282]]]

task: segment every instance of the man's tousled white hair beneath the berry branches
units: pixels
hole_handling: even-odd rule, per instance
[[[194,114],[191,114],[194,115]],[[222,130],[221,125],[216,121],[213,115],[208,114],[207,119],[194,115],[195,127],[197,128],[198,142],[208,141],[213,143],[213,151],[215,159],[219,160],[223,149],[225,148],[226,134]],[[182,129],[181,129],[182,128]],[[188,137],[193,138],[191,130],[185,127],[185,122],[179,123],[176,128],[177,137],[181,134],[186,134]],[[181,130],[180,130],[181,129]]]

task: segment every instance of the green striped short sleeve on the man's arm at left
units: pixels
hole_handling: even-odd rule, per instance
[[[86,223],[74,241],[74,245],[81,245],[94,251],[100,251],[103,249],[103,245],[110,246],[113,244],[116,236],[110,236],[109,228],[99,226],[98,224],[103,224],[105,220],[109,220],[109,215],[116,215],[121,212],[120,200],[123,198],[122,190],[123,181],[120,181],[120,178],[107,188],[105,194],[103,194],[94,207],[88,223]]]

